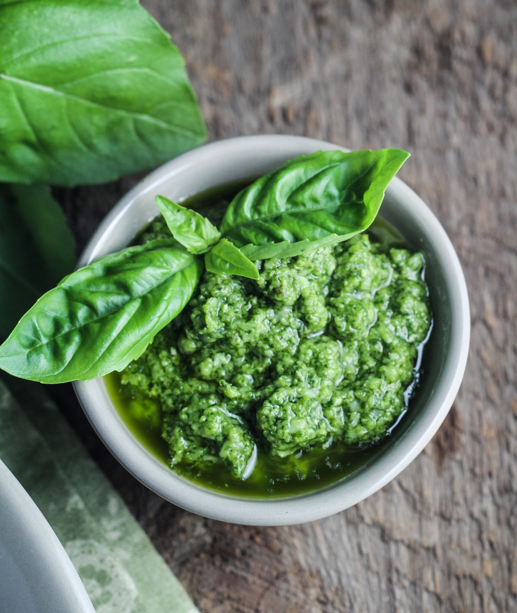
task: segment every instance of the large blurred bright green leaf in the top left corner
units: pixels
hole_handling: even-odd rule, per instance
[[[104,183],[206,137],[169,36],[137,0],[0,0],[0,181]]]

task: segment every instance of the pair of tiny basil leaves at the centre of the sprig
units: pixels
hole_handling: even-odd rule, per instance
[[[207,270],[216,275],[259,278],[255,264],[231,242],[219,240],[219,230],[207,218],[165,196],[156,196],[156,204],[178,243],[190,253],[205,254]]]

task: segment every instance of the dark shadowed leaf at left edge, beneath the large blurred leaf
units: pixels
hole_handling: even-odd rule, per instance
[[[74,266],[74,236],[50,188],[0,185],[0,338]]]

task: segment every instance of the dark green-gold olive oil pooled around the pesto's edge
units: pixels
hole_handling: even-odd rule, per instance
[[[182,205],[195,208],[202,215],[209,216],[212,223],[219,224],[228,202],[250,182],[240,181],[212,188],[184,200]],[[381,218],[375,219],[368,232],[372,238],[387,245],[406,246],[400,234]],[[421,375],[425,371],[424,357]],[[130,386],[123,386],[120,379],[117,372],[104,377],[109,395],[124,424],[145,449],[170,467],[169,448],[161,436],[162,417],[158,403],[138,395]],[[418,394],[418,389],[415,394]],[[408,417],[411,405],[410,399],[409,410],[397,424]],[[171,470],[197,485],[236,497],[291,497],[350,478],[380,455],[388,442],[389,435],[381,443],[363,448],[350,447],[337,441],[327,449],[317,446],[304,451],[299,457],[285,459],[272,458],[265,449],[259,449],[255,470],[245,481],[232,476],[222,463],[201,466],[180,463]]]

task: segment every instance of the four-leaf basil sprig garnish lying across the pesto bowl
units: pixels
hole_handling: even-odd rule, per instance
[[[158,196],[174,238],[123,249],[66,276],[0,346],[0,368],[44,383],[122,370],[185,307],[203,261],[210,272],[256,280],[249,258],[293,257],[347,240],[372,223],[408,155],[318,151],[294,159],[239,192],[221,230]]]

